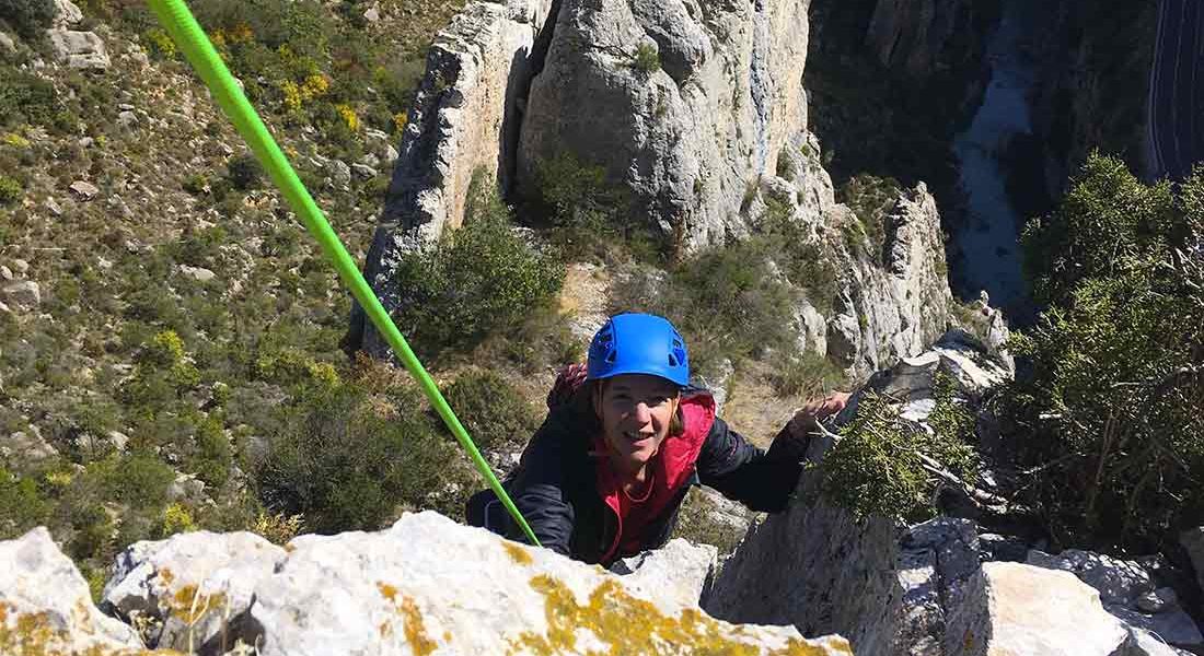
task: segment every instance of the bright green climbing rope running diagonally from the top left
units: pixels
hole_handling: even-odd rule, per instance
[[[523,514],[514,507],[514,502],[502,487],[502,484],[498,483],[497,477],[494,475],[494,471],[490,469],[489,463],[482,457],[477,445],[468,437],[468,432],[460,424],[460,419],[456,418],[450,406],[448,406],[447,400],[439,394],[438,386],[435,385],[430,374],[426,373],[426,368],[423,367],[418,356],[411,350],[406,338],[402,337],[401,331],[393,323],[393,318],[389,317],[384,306],[380,305],[380,300],[377,299],[372,288],[368,286],[367,280],[364,279],[359,267],[355,266],[355,261],[330,227],[330,223],[326,221],[321,209],[313,201],[313,196],[309,195],[301,178],[293,170],[293,165],[289,164],[288,158],[281,152],[279,146],[277,146],[276,140],[267,131],[259,113],[252,107],[247,96],[243,95],[238,83],[229,69],[226,69],[225,63],[222,61],[222,57],[213,48],[213,43],[209,42],[209,37],[201,29],[200,24],[197,24],[191,11],[189,11],[183,0],[148,0],[148,4],[159,18],[159,22],[167,30],[167,34],[171,35],[172,40],[184,53],[184,57],[188,58],[193,69],[196,70],[206,87],[208,87],[209,93],[213,94],[213,99],[217,100],[222,111],[225,112],[226,117],[237,128],[238,134],[242,135],[247,146],[250,147],[255,158],[267,171],[277,189],[284,194],[289,207],[301,217],[306,229],[318,240],[326,259],[335,265],[338,276],[343,279],[343,284],[350,289],[352,295],[364,307],[365,313],[376,325],[377,330],[384,335],[393,351],[401,357],[406,370],[418,380],[423,394],[431,401],[431,404],[438,412],[439,416],[443,418],[443,422],[447,424],[452,435],[455,436],[464,450],[467,451],[468,457],[482,475],[485,477],[486,483],[489,483],[494,494],[497,495],[497,498],[501,500],[502,506],[506,507],[506,510],[509,512],[510,516],[523,528],[527,539],[532,544],[538,545],[539,540],[535,537]]]

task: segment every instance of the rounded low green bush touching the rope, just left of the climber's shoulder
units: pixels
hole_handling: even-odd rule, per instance
[[[443,390],[443,396],[480,449],[525,444],[543,421],[538,408],[488,370],[461,374]]]

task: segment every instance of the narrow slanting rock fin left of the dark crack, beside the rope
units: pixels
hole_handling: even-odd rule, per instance
[[[468,2],[431,45],[365,265],[389,312],[401,302],[391,283],[400,253],[460,225],[473,175],[479,170],[502,189],[509,185],[521,106],[539,61],[532,51],[551,5]],[[389,353],[359,305],[348,343],[377,357]]]

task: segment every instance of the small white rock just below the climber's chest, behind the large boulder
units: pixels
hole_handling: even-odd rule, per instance
[[[661,549],[620,560],[610,571],[648,596],[697,605],[718,565],[719,552],[714,546],[674,538]]]

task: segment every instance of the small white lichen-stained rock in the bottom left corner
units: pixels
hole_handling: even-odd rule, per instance
[[[0,542],[0,654],[141,654],[132,628],[92,604],[88,581],[35,528]]]

